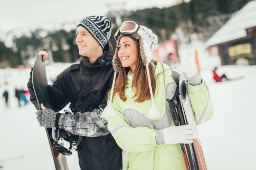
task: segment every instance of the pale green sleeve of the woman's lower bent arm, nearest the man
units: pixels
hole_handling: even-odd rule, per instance
[[[107,128],[120,148],[130,153],[140,153],[157,146],[156,130],[147,127],[132,128],[115,100],[111,104],[117,115],[107,119]]]

